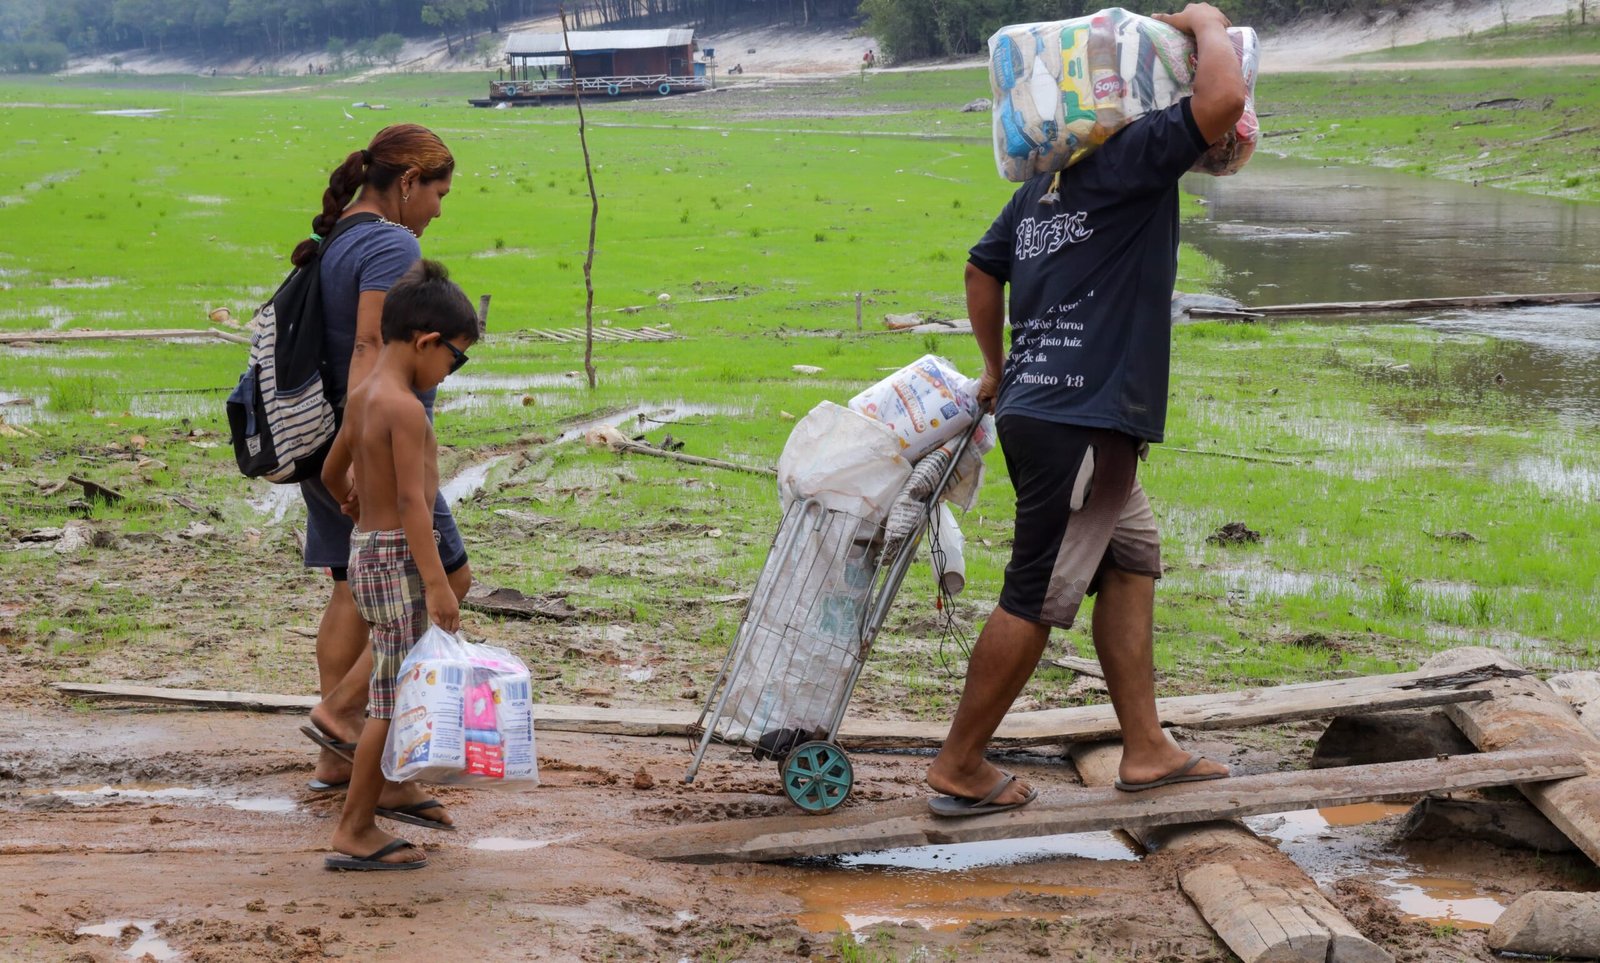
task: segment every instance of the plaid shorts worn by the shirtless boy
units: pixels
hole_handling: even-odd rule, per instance
[[[394,718],[400,664],[427,632],[422,573],[411,558],[405,531],[350,533],[350,593],[373,627],[373,680],[366,715]]]

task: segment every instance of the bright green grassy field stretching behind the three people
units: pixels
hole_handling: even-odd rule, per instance
[[[1315,88],[1330,82],[1349,91]],[[1376,98],[1368,83],[1274,78],[1262,99],[1322,98],[1323,110],[1330,90]],[[467,109],[483,86],[456,75],[304,90],[256,80],[0,82],[0,101],[18,104],[0,114],[0,331],[206,326],[219,306],[248,317],[282,278],[326,171],[384,123],[430,125],[459,173],[424,251],[474,298],[493,294],[491,338],[446,382],[438,416],[446,470],[506,456],[459,510],[475,571],[526,592],[568,590],[602,621],[630,625],[629,645],[677,653],[690,678],[704,681],[739,613],[694,600],[749,590],[778,523],[771,482],[552,442],[603,413],[677,410],[672,424],[630,426],[651,440],[670,432],[691,454],[773,464],[794,416],[822,400],[843,403],[922,354],[976,373],[970,339],[883,334],[880,320],[909,310],[965,317],[965,250],[1010,194],[994,173],[987,114],[957,112],[984,94],[982,74],[595,104],[597,323],[669,325],[682,336],[597,344],[595,390],[573,376],[581,344],[522,334],[582,323],[589,197],[576,112]],[[387,110],[352,107],[358,101]],[[165,112],[98,114],[114,109]],[[1296,118],[1312,115],[1296,109]],[[1368,141],[1344,149],[1370,150]],[[1186,248],[1179,286],[1203,290],[1210,272]],[[642,309],[621,312],[632,306]],[[1398,325],[1176,330],[1168,445],[1142,472],[1170,566],[1157,611],[1165,691],[1386,670],[1453,645],[1498,645],[1536,665],[1592,662],[1597,432],[1485,390],[1498,350]],[[3,568],[22,587],[18,637],[90,659],[51,672],[104,673],[96,657],[138,641],[138,657],[157,665],[146,677],[160,677],[176,649],[157,640],[184,633],[186,606],[205,606],[226,611],[218,624],[229,632],[274,629],[254,643],[259,659],[243,678],[202,646],[186,654],[192,672],[306,685],[309,665],[270,662],[282,625],[314,619],[301,609],[318,585],[251,507],[266,486],[237,477],[226,443],[216,445],[226,442],[222,398],[243,352],[158,341],[0,347],[0,414],[38,435],[0,437],[0,512],[13,536],[72,517],[75,488],[50,483],[78,472],[130,494],[93,509],[117,533],[158,541],[189,526],[194,517],[173,507],[173,493],[216,507],[227,544],[248,545],[229,571],[266,569],[275,587],[197,582],[195,598],[181,579],[128,573],[72,587],[62,576],[82,563],[13,553]],[[797,374],[795,365],[822,371]],[[957,616],[968,633],[998,592],[1010,545],[998,453],[989,467],[982,501],[963,518],[968,593]],[[1227,521],[1245,521],[1262,541],[1208,544]],[[926,566],[914,569],[869,677],[867,689],[896,693],[906,712],[946,712],[958,691],[936,657],[930,585]],[[1067,633],[1066,645],[1088,653],[1086,630]],[[568,697],[594,675],[578,664],[563,672],[552,686]],[[1030,694],[1070,701],[1067,681],[1042,673]]]

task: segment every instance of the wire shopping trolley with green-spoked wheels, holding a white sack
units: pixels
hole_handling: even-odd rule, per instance
[[[979,422],[954,450],[917,462],[890,518],[795,501],[782,517],[744,621],[710,686],[694,733],[693,782],[712,741],[776,760],[784,795],[827,813],[850,795],[854,768],[838,726],[872,643],[939,499]]]

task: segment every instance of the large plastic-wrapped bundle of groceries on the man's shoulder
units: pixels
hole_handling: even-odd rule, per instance
[[[1229,27],[1245,74],[1245,114],[1195,171],[1232,174],[1261,139],[1256,70],[1261,43]],[[1114,133],[1194,93],[1195,42],[1120,6],[1070,21],[1002,27],[989,38],[995,165],[1008,181],[1066,170]]]

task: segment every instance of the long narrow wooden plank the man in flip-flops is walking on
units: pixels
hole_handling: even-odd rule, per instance
[[[878,806],[848,806],[827,816],[766,816],[653,829],[624,841],[621,848],[675,862],[771,862],[902,846],[1178,825],[1309,806],[1408,798],[1426,792],[1549,782],[1584,773],[1584,760],[1560,749],[1486,752],[1445,760],[1235,776],[1141,793],[1058,789],[1042,793],[1022,809],[968,819],[941,819],[928,813],[925,798],[912,798]]]

